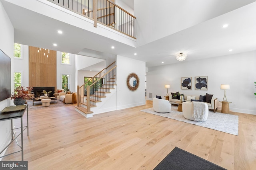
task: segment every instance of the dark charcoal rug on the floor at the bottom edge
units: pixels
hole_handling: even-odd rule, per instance
[[[154,170],[226,170],[208,160],[175,147]]]

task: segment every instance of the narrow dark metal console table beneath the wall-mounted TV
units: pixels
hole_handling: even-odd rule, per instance
[[[19,151],[16,151],[16,152],[12,152],[10,154],[14,154],[14,153],[17,153],[17,152],[21,152],[21,160],[23,161],[23,131],[25,131],[27,129],[27,132],[28,132],[28,104],[25,104],[25,108],[23,110],[20,110],[20,111],[10,111],[10,112],[0,112],[0,121],[6,121],[6,120],[11,120],[11,133],[12,133],[12,140],[10,141],[10,143],[3,149],[1,150],[0,154],[2,154],[2,152],[4,152],[4,150],[6,150],[6,148],[13,142],[13,141],[16,141],[17,145],[20,147],[21,150]],[[23,118],[23,115],[24,115],[24,112],[27,111],[27,125],[26,126],[23,126],[23,121],[22,121],[22,118]],[[18,128],[14,128],[13,129],[13,119],[18,119],[20,118],[20,127]],[[20,129],[20,134],[18,135],[15,135],[14,131],[15,129]],[[18,143],[17,141],[17,138],[18,136],[21,136],[21,145]],[[14,138],[13,138],[14,137]],[[5,156],[8,156],[10,154],[6,154],[4,156],[0,156],[0,158],[2,157],[5,157]]]

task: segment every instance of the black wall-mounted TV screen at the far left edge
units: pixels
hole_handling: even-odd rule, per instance
[[[11,59],[0,50],[0,101],[11,96]]]

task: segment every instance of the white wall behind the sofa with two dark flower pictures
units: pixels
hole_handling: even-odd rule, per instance
[[[189,57],[189,56],[188,56]],[[250,113],[256,115],[256,51],[235,55],[214,57],[200,61],[180,62],[148,68],[147,72],[147,99],[148,93],[152,97],[166,96],[165,84],[170,84],[170,92],[180,92],[184,95],[214,94],[218,101],[222,101],[224,90],[220,84],[230,84],[226,90],[226,97],[230,104],[230,111]],[[195,77],[208,76],[208,90],[195,90]],[[192,77],[192,90],[181,90],[181,77]],[[221,109],[221,103],[218,104]]]

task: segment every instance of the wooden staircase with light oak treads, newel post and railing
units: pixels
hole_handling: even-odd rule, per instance
[[[109,104],[109,100],[116,98],[114,95],[116,93],[116,65],[114,66],[114,63],[90,78],[82,86],[78,86],[78,105],[75,108],[86,118],[115,109],[116,102],[113,107]]]

